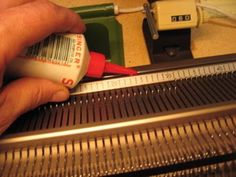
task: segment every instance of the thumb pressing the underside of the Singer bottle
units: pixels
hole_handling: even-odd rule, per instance
[[[11,82],[0,92],[0,133],[21,114],[68,97],[69,91],[64,86],[49,80],[22,78]]]

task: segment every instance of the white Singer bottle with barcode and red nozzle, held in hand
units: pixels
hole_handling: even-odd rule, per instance
[[[133,69],[107,62],[103,54],[89,52],[82,34],[53,34],[7,66],[7,76],[11,78],[45,78],[69,88],[85,75],[100,78],[103,73],[137,74]]]

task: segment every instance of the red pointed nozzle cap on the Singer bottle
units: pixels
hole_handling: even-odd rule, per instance
[[[103,54],[90,52],[90,63],[86,76],[100,78],[103,73],[136,75],[137,71],[107,62]]]

